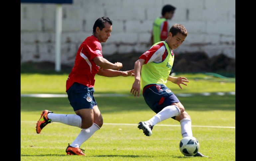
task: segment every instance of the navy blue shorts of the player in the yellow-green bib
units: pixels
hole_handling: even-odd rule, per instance
[[[156,114],[163,108],[180,102],[173,92],[163,84],[149,84],[143,88],[143,97],[146,104]],[[172,117],[175,120],[175,116]]]

